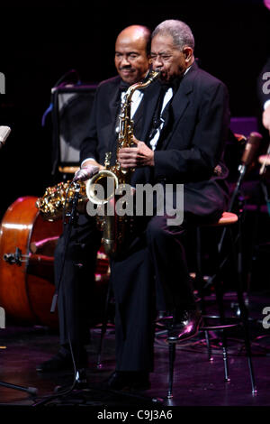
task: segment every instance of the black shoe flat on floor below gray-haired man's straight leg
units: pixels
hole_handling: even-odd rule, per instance
[[[150,388],[149,375],[141,371],[114,371],[105,387],[111,390],[147,390]]]

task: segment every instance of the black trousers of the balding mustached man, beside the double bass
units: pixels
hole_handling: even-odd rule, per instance
[[[54,269],[61,346],[67,346],[69,340],[78,349],[89,343],[89,312],[100,243],[95,219],[84,215],[74,226],[66,225],[59,238]]]

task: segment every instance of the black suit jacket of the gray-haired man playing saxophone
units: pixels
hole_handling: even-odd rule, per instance
[[[160,84],[145,93],[141,140],[148,142]],[[175,92],[170,126],[157,143],[155,167],[135,171],[133,184],[184,183],[184,211],[198,216],[220,215],[228,204],[228,170],[223,151],[229,130],[226,86],[193,63]],[[214,169],[220,165],[220,175]]]

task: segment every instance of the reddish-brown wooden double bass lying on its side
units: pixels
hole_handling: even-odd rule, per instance
[[[50,312],[54,283],[54,250],[63,221],[45,220],[37,198],[17,198],[0,226],[0,307],[22,324],[58,328],[58,312]],[[106,280],[108,258],[97,256],[95,280]]]

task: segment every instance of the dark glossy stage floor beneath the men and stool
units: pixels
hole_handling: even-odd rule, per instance
[[[235,296],[227,297],[230,313],[234,313]],[[209,301],[211,305],[211,300]],[[264,328],[262,311],[270,308],[269,293],[248,296],[250,334],[257,394],[252,394],[247,357],[241,333],[229,334],[229,376],[224,381],[222,349],[218,333],[211,332],[213,361],[209,362],[204,333],[178,345],[175,357],[174,397],[166,399],[168,348],[162,327],[157,327],[155,372],[151,388],[145,392],[110,392],[103,389],[104,380],[114,370],[114,332],[108,328],[103,341],[102,368],[97,368],[100,328],[90,329],[92,343],[87,347],[89,366],[85,389],[75,387],[59,394],[56,387],[70,388],[74,373],[37,373],[35,367],[58,351],[58,334],[46,327],[22,327],[9,322],[0,330],[0,382],[37,389],[37,393],[0,385],[0,407],[84,406],[98,413],[104,409],[151,409],[167,407],[266,407],[270,405],[270,329]],[[270,319],[268,320],[270,324]]]

